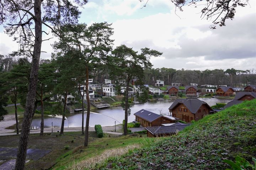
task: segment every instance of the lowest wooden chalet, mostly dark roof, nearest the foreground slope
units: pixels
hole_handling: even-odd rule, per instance
[[[185,129],[190,124],[184,123],[174,123],[169,126],[155,126],[155,127],[146,127],[148,137],[161,137],[161,136],[170,136],[174,135],[177,132]]]

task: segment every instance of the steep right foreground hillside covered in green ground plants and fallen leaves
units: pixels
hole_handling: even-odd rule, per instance
[[[256,100],[208,115],[178,135],[112,157],[95,169],[225,169],[224,159],[256,157]]]

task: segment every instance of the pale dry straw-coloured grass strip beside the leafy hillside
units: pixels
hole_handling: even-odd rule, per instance
[[[107,149],[104,152],[102,152],[100,155],[83,160],[79,163],[74,163],[68,169],[72,169],[72,170],[73,169],[75,170],[92,169],[97,164],[104,162],[106,159],[110,157],[117,157],[117,156],[126,154],[128,152],[131,152],[133,149],[139,148],[139,147],[140,147],[139,144],[134,144],[134,145],[128,145],[126,147],[121,147],[121,148]]]

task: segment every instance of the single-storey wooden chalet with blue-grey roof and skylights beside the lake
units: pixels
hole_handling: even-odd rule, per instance
[[[162,124],[176,123],[179,119],[168,116],[159,115],[144,109],[134,113],[135,120],[143,127],[162,126]]]

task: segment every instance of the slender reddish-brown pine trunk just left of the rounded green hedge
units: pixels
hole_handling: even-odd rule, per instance
[[[90,96],[89,96],[89,70],[88,66],[86,67],[86,83],[85,83],[85,91],[86,91],[86,100],[87,100],[87,114],[86,114],[86,123],[85,123],[85,142],[84,146],[88,146],[88,140],[89,140],[89,120],[90,120]]]

